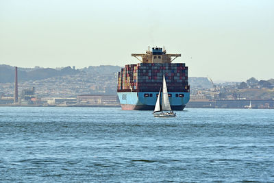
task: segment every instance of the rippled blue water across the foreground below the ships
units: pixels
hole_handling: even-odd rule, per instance
[[[274,110],[0,107],[0,182],[274,182]]]

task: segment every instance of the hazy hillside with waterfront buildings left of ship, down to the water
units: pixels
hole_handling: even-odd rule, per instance
[[[18,104],[119,105],[116,100],[116,73],[120,69],[120,66],[18,68]],[[15,68],[1,65],[0,70],[5,71],[0,75],[0,104],[14,103]]]

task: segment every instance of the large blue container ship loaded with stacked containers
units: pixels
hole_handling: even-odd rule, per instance
[[[123,110],[153,110],[163,75],[169,92],[172,110],[183,110],[190,98],[188,67],[171,63],[181,54],[166,54],[160,47],[146,53],[132,54],[140,63],[127,64],[118,73],[117,95]]]

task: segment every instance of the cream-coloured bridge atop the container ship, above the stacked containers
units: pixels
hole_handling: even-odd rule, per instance
[[[166,50],[160,47],[153,47],[152,51],[148,49],[146,53],[132,53],[142,63],[171,63],[181,54],[166,54]]]

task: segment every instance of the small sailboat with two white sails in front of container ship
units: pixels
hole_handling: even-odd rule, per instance
[[[161,88],[154,108],[154,117],[176,117],[176,113],[171,110],[169,103],[169,94],[166,88],[166,79],[163,76],[162,103],[160,103]],[[161,105],[162,104],[162,105]],[[166,111],[166,112],[164,112]],[[170,112],[168,112],[170,111]]]

